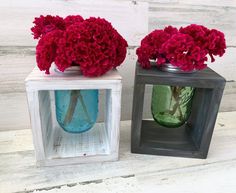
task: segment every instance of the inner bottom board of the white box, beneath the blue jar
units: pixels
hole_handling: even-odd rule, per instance
[[[55,128],[47,138],[46,154],[49,159],[83,157],[109,154],[109,144],[104,124],[97,123],[88,132],[71,134]]]

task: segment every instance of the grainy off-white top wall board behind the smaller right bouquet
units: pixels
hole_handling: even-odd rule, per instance
[[[194,1],[188,3],[186,1],[177,3],[151,2],[149,4],[149,31],[167,25],[181,27],[195,23],[223,31],[227,45],[235,46],[236,3],[231,1],[232,6],[222,4],[215,6],[215,3],[211,4],[209,1],[205,1],[204,4]]]

